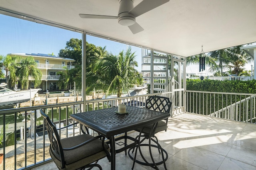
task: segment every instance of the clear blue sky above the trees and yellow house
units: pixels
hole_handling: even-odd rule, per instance
[[[43,53],[58,55],[60,49],[66,47],[66,42],[71,38],[82,39],[82,34],[66,29],[39,24],[0,14],[0,55],[9,53]],[[101,39],[90,35],[86,41],[96,46],[104,47],[117,55],[126,49],[126,45]],[[141,71],[141,49],[132,47],[136,52],[137,62]]]

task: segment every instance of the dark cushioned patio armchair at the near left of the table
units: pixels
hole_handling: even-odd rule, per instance
[[[102,170],[102,167],[97,164],[98,160],[106,156],[110,160],[110,149],[104,143],[104,137],[103,140],[100,140],[101,135],[93,137],[82,131],[82,135],[60,139],[58,130],[73,126],[76,123],[56,129],[42,109],[40,109],[40,113],[44,117],[44,123],[50,139],[50,156],[59,169],[91,169],[96,166]]]

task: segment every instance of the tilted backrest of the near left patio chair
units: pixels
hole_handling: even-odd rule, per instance
[[[52,121],[48,117],[48,115],[46,115],[42,109],[40,109],[40,113],[44,117],[44,124],[46,125],[46,130],[48,133],[48,137],[50,139],[50,150],[54,154],[54,156],[61,161],[62,168],[64,168],[65,167],[64,153],[60,143],[60,136],[58,134],[58,131],[55,125],[52,123]]]

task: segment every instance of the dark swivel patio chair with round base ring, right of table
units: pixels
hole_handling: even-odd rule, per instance
[[[166,97],[163,97],[163,96],[149,96],[149,98],[146,100],[146,109],[152,109],[152,110],[155,110],[155,111],[170,113],[171,106],[172,106],[172,102],[170,102],[170,99],[166,98]],[[142,165],[149,165],[149,166],[152,166],[153,168],[156,165],[160,165],[160,164],[164,163],[164,167],[166,168],[165,161],[168,158],[168,154],[167,154],[166,150],[162,149],[162,147],[158,143],[158,139],[155,136],[155,134],[160,132],[160,131],[166,131],[167,130],[167,124],[168,124],[168,119],[166,119],[164,121],[158,121],[155,125],[151,124],[151,125],[147,125],[146,127],[136,129],[136,131],[140,132],[140,134],[136,137],[136,139],[140,140],[140,138],[142,137],[142,139],[139,141],[140,147],[141,146],[148,146],[149,147],[150,157],[152,158],[152,163],[147,162],[142,154],[141,154],[141,156],[142,156],[142,158],[145,162],[141,162],[139,160],[136,160],[136,153],[137,153],[138,145],[136,145],[136,147],[131,148],[131,149],[128,150],[128,154],[129,154],[130,158],[132,160],[134,160],[134,163],[137,162],[137,163],[142,164]],[[142,144],[142,142],[145,141],[146,139],[149,139],[149,142],[147,144],[144,144],[144,143]],[[151,141],[153,141],[156,145],[151,144]],[[153,155],[152,155],[152,152],[151,152],[151,147],[158,148],[159,154],[162,154],[162,159],[163,159],[162,161],[154,162]],[[132,153],[133,153],[134,149],[136,149],[136,152],[135,152],[135,155],[134,155],[134,158],[133,158],[130,154],[130,151],[132,150]],[[166,156],[164,156],[164,153],[166,154]],[[133,163],[132,169],[134,168],[134,163]]]

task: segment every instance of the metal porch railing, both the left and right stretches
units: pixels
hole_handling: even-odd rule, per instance
[[[83,101],[0,110],[2,122],[8,123],[8,127],[3,129],[6,135],[2,141],[0,152],[4,153],[5,157],[0,167],[8,169],[7,167],[12,166],[14,167],[13,169],[25,169],[28,167],[32,168],[33,166],[36,167],[38,164],[50,160],[50,156],[46,153],[49,141],[48,137],[44,137],[46,134],[42,130],[43,119],[40,117],[40,114],[36,114],[38,109],[46,109],[56,126],[67,125],[72,121],[68,117],[69,114],[113,107],[118,102],[136,107],[144,107],[144,102],[149,95],[152,94],[88,100],[85,102],[85,110],[83,110]],[[164,95],[170,98],[172,92],[154,95]],[[174,99],[172,102],[172,107],[175,108]],[[255,105],[255,94],[186,91],[186,111],[190,113],[255,124]],[[229,109],[231,107],[232,109]],[[224,110],[227,110],[226,113]],[[2,125],[0,125],[1,127]],[[22,130],[24,133],[20,135]],[[62,137],[72,136],[75,133],[80,133],[78,127],[61,131]],[[32,155],[32,161],[26,157],[27,155]]]

